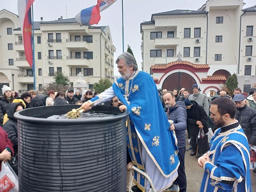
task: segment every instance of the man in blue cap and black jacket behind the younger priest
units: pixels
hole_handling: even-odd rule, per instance
[[[246,98],[243,94],[236,94],[233,98],[236,104],[236,120],[243,128],[249,145],[256,145],[256,110],[246,106]]]

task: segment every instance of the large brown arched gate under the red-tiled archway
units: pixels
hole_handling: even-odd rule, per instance
[[[191,89],[193,84],[196,84],[196,81],[192,76],[184,72],[176,72],[164,79],[162,89],[167,89],[168,91],[177,89],[179,92],[181,88],[186,88],[189,93],[193,93]]]

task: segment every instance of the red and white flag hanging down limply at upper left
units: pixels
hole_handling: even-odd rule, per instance
[[[35,0],[18,0],[20,29],[22,31],[26,60],[30,67],[33,65],[31,6],[34,1]]]

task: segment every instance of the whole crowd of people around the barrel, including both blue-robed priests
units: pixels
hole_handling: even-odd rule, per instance
[[[207,97],[200,93],[198,84],[193,84],[191,94],[188,88],[161,91],[149,74],[138,70],[128,52],[121,54],[116,64],[122,77],[102,93],[86,90],[82,95],[80,90],[68,88],[66,93],[50,91],[48,95],[38,95],[31,90],[19,96],[4,86],[0,100],[0,161],[9,161],[17,173],[16,111],[79,103],[86,111],[110,103],[129,111],[127,191],[132,166],[147,173],[157,191],[186,191],[186,151],[198,157],[198,164],[205,170],[200,191],[251,191],[250,147],[256,145],[256,88],[248,97],[240,88],[234,89],[233,97],[225,91],[212,91]],[[201,130],[207,135],[209,128],[214,132],[210,150],[198,156],[198,133]],[[137,172],[134,182],[134,192],[150,189],[150,182]]]

